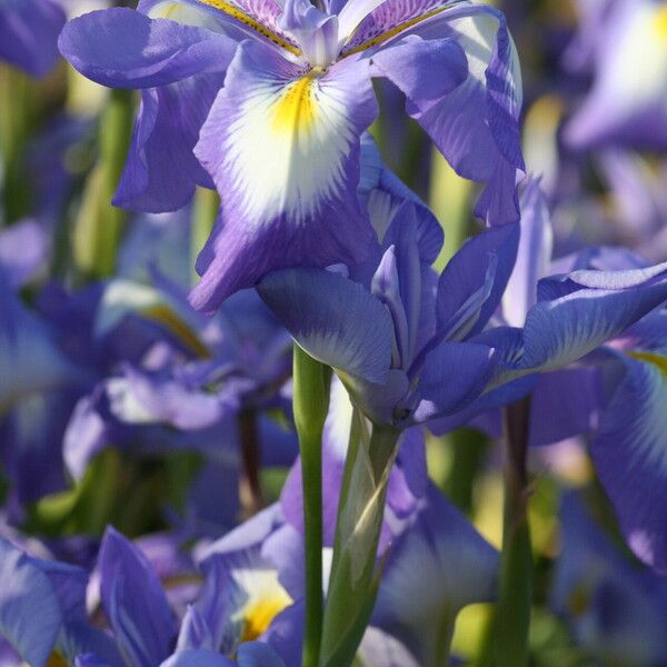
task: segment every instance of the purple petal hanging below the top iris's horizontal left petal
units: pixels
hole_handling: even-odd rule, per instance
[[[141,91],[115,206],[136,211],[173,211],[188,203],[195,186],[212,187],[192,150],[221,87],[221,74],[200,74]]]

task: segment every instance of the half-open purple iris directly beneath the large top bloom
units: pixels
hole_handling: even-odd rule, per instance
[[[339,374],[366,415],[406,428],[462,409],[490,381],[497,351],[470,339],[505,291],[519,229],[479,233],[438,277],[430,263],[442,236],[431,217],[405,202],[375,223],[382,250],[352,272],[360,282],[286,269],[269,273],[258,291],[295,340]]]

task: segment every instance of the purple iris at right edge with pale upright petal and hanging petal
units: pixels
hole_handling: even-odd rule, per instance
[[[664,571],[667,518],[656,498],[667,479],[666,267],[615,248],[551,262],[549,217],[537,182],[522,202],[519,259],[502,312],[514,325],[524,321],[522,349],[507,372],[542,371],[532,391],[530,441],[588,435],[629,546]],[[566,272],[540,279],[558,267]]]

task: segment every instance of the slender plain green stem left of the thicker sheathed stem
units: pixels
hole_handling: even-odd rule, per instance
[[[330,372],[295,345],[293,414],[301,454],[306,541],[303,667],[317,667],[322,639],[322,431],[329,409]]]

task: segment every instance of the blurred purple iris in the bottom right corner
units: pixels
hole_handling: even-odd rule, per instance
[[[651,667],[665,663],[664,577],[626,558],[593,521],[578,496],[565,496],[560,522],[561,551],[551,606],[566,620],[577,646],[601,664]]]

